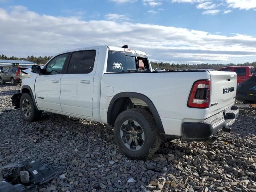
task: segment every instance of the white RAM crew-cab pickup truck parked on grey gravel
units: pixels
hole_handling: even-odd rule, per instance
[[[130,158],[154,154],[162,137],[210,140],[238,116],[235,72],[152,71],[127,46],[69,50],[31,71],[12,97],[25,121],[47,111],[106,123]]]

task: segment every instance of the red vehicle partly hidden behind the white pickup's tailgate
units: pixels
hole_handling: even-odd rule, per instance
[[[218,71],[232,71],[237,74],[237,83],[247,80],[254,74],[254,66],[222,67]]]

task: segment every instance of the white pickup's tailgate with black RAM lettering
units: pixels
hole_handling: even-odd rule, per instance
[[[211,75],[211,97],[209,116],[234,105],[236,98],[236,73],[209,71]]]

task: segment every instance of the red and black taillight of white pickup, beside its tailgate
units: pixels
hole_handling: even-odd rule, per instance
[[[210,80],[198,80],[194,82],[188,98],[188,107],[209,108],[210,90]]]

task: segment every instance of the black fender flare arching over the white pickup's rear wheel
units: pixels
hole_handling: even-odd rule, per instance
[[[144,101],[148,105],[148,108],[150,109],[150,111],[152,112],[152,114],[154,116],[154,120],[156,122],[156,126],[160,130],[160,134],[165,134],[161,118],[160,118],[158,111],[156,110],[156,107],[154,106],[153,102],[147,96],[140,94],[140,93],[136,93],[136,92],[121,92],[121,93],[116,94],[112,98],[112,100],[110,101],[110,104],[108,106],[108,112],[107,112],[108,126],[113,127],[113,124],[114,124],[114,122],[112,122],[112,119],[111,119],[111,112],[112,112],[112,108],[113,108],[113,105],[116,102],[116,100],[118,100],[119,98],[128,98],[128,97],[137,98],[137,99]]]

